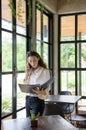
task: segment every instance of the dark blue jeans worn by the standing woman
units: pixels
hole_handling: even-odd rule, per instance
[[[31,115],[30,110],[32,110],[35,115],[39,112],[40,116],[42,116],[44,107],[44,100],[41,100],[38,97],[26,96],[26,117]]]

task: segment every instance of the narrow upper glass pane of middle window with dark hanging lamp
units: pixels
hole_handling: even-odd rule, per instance
[[[48,42],[48,17],[43,15],[43,41]]]

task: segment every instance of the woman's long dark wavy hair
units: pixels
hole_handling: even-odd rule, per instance
[[[41,56],[36,51],[29,51],[27,53],[27,58],[29,56],[36,56],[37,58],[39,58],[38,65],[47,69],[47,65],[45,64],[45,62],[43,61],[43,59],[41,58]]]

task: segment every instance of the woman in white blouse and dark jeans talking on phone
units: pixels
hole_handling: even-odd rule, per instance
[[[24,82],[28,84],[43,84],[50,79],[49,70],[46,67],[46,64],[40,57],[40,55],[35,51],[30,51],[27,54],[27,63],[25,70]],[[46,90],[40,90],[38,88],[33,89],[34,94],[28,93],[26,95],[26,116],[30,116],[30,110],[37,115],[40,113],[40,116],[44,111],[44,99],[49,93],[49,87]]]

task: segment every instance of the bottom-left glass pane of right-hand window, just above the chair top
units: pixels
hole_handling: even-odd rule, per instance
[[[75,71],[61,71],[61,91],[67,90],[75,95]]]

